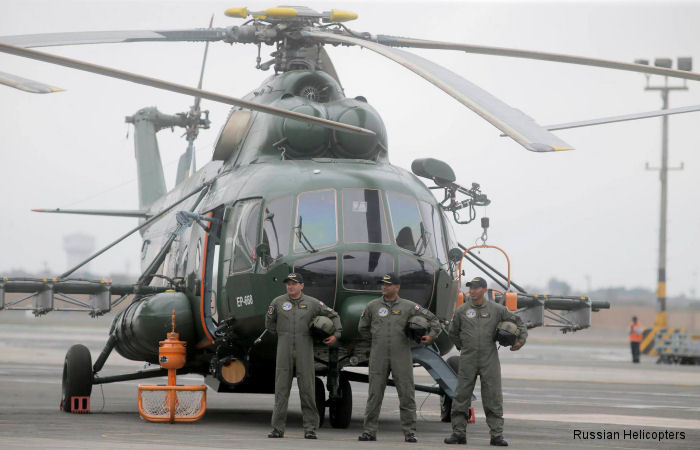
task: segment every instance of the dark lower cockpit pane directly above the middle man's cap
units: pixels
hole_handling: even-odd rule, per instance
[[[379,291],[382,276],[394,271],[394,258],[384,252],[348,252],[343,255],[343,287]]]

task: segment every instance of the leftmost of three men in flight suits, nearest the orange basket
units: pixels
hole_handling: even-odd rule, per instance
[[[303,294],[304,278],[301,274],[290,273],[283,282],[287,286],[287,293],[272,300],[265,316],[265,329],[277,334],[275,409],[272,412],[272,432],[267,437],[284,437],[289,391],[296,373],[304,437],[316,439],[319,417],[314,389],[314,343],[309,325],[319,315],[333,321],[335,333],[323,340],[327,345],[340,338],[342,326],[338,313],[323,302]]]

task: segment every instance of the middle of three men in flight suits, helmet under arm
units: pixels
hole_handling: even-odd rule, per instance
[[[379,411],[384,399],[389,372],[399,394],[401,429],[406,442],[416,439],[416,400],[413,384],[412,341],[406,334],[408,320],[421,315],[428,320],[430,331],[421,338],[430,344],[440,334],[440,322],[433,313],[410,300],[400,298],[399,277],[388,273],[382,277],[382,297],[370,301],[362,311],[358,331],[372,346],[369,357],[369,396],[365,408],[364,432],[360,441],[376,441]]]

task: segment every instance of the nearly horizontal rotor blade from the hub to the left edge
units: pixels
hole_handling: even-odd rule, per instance
[[[0,42],[25,48],[51,47],[55,45],[116,44],[121,42],[201,42],[221,41],[227,36],[229,31],[229,28],[196,28],[166,31],[76,31],[0,36]]]

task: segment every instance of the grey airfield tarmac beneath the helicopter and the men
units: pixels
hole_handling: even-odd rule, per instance
[[[50,316],[56,315],[52,313]],[[73,319],[75,318],[75,319]],[[106,340],[110,318],[68,321],[23,313],[0,313],[0,448],[435,448],[450,433],[440,422],[435,395],[416,393],[418,444],[405,444],[398,398],[387,388],[378,441],[359,443],[367,386],[352,383],[353,420],[348,429],[326,424],[318,441],[303,439],[296,387],[289,405],[284,439],[267,439],[272,395],[218,394],[209,390],[207,412],[194,424],[152,424],[138,415],[136,387],[162,384],[141,380],[93,388],[91,414],[58,410],[65,351],[74,343],[90,348],[93,361]],[[88,323],[89,326],[83,325]],[[700,367],[657,365],[654,357],[629,362],[625,336],[584,330],[560,335],[531,330],[519,352],[501,350],[505,411],[504,437],[512,448],[688,448],[700,447]],[[104,374],[143,365],[112,354]],[[416,383],[431,384],[422,369]],[[201,377],[178,377],[180,384],[201,384]],[[475,391],[480,398],[477,384]],[[489,447],[480,400],[469,447]],[[575,439],[582,432],[619,432],[619,439]],[[624,432],[682,432],[685,439],[624,438]],[[447,447],[447,446],[444,446]]]

